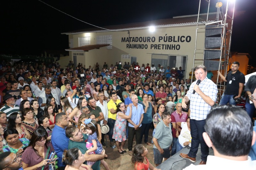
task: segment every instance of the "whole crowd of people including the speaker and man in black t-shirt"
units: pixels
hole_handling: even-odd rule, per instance
[[[196,66],[194,74],[191,71],[184,79],[181,67],[160,64],[156,68],[116,62],[108,67],[105,62],[102,69],[98,63],[95,68],[71,63],[66,69],[55,63],[2,65],[0,160],[15,159],[17,169],[100,169],[100,164],[111,169],[104,160],[106,135],[110,147],[132,156],[135,169],[157,169],[146,158],[143,139],[144,144],[153,144],[156,166],[187,146],[189,153],[180,156],[196,162],[199,144],[200,165],[207,162],[204,127],[218,89],[204,66]],[[220,105],[236,105],[242,97],[245,80],[238,69],[239,63],[234,62],[227,77],[218,73],[228,82]],[[244,89],[248,94],[245,110],[251,118],[255,81],[252,76]]]

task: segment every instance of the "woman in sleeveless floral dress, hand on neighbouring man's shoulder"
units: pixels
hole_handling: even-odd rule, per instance
[[[116,122],[112,138],[115,139],[117,150],[120,154],[124,154],[126,152],[123,148],[126,141],[126,120],[131,119],[132,117],[132,104],[129,104],[129,107],[130,113],[129,116],[127,116],[125,115],[124,103],[121,102],[117,105]],[[119,146],[119,142],[121,142],[121,146]]]

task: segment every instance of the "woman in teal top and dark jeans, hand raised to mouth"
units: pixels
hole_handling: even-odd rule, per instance
[[[151,146],[151,143],[148,143],[148,131],[152,123],[152,105],[148,101],[148,94],[146,93],[142,94],[142,102],[140,102],[140,104],[142,104],[144,109],[144,114],[143,114],[144,116],[141,123],[141,135],[140,135],[141,142],[142,142],[142,137],[144,135],[145,144]]]

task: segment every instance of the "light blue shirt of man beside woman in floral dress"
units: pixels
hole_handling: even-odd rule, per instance
[[[130,114],[130,107],[127,107],[127,111],[126,111],[125,115],[129,116],[129,114]],[[141,118],[142,114],[144,114],[144,109],[141,104],[138,103],[138,108],[136,108],[136,106],[132,105],[131,120],[133,123],[138,125],[140,123],[140,118]],[[134,126],[131,123],[128,123],[128,126],[134,128]],[[141,126],[141,124],[140,124],[140,126]]]

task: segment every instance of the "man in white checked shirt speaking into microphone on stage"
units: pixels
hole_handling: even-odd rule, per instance
[[[189,153],[180,153],[180,156],[191,162],[196,162],[196,153],[199,144],[201,144],[202,161],[200,165],[206,164],[207,156],[209,155],[209,148],[203,139],[203,133],[205,132],[204,124],[207,115],[215,104],[218,92],[217,85],[215,85],[212,80],[208,79],[206,75],[207,71],[205,66],[199,65],[195,67],[196,81],[191,84],[188,93],[184,99],[182,99],[181,103],[182,107],[186,108],[186,102],[190,100],[190,133],[192,141]],[[201,80],[201,83],[198,84],[198,80]]]

